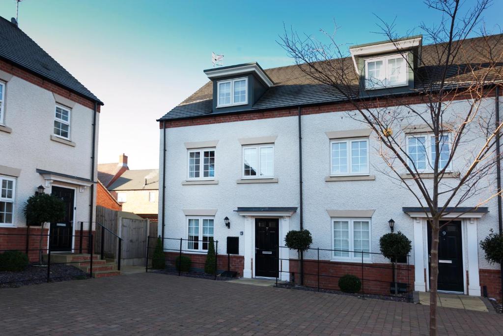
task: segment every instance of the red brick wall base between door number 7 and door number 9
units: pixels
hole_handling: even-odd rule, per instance
[[[299,260],[290,259],[290,273],[295,273],[295,283],[299,283]],[[389,295],[390,283],[393,282],[392,266],[390,263],[364,263],[362,276],[362,264],[352,262],[334,262],[320,260],[319,263],[319,286],[323,289],[339,290],[339,278],[351,274],[363,279],[363,290],[367,294]],[[414,266],[398,264],[397,282],[408,283],[413,290]],[[304,285],[309,287],[318,286],[318,265],[316,260],[304,260]]]

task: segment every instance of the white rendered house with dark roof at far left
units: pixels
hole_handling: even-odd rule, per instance
[[[95,221],[97,149],[103,103],[16,24],[0,17],[0,249],[38,248],[40,226],[23,206],[37,190],[58,195],[65,216],[45,226],[53,251],[87,251]],[[82,62],[86,62],[82,55]],[[80,232],[79,222],[83,223]],[[7,234],[19,234],[7,235]],[[30,251],[30,259],[38,251]]]

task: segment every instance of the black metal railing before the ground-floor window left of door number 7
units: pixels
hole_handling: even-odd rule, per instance
[[[207,243],[210,244],[209,241],[194,241],[194,240],[189,240],[189,239],[183,239],[183,238],[160,238],[160,237],[147,237],[147,248],[146,248],[146,257],[145,257],[145,272],[148,272],[148,270],[156,270],[159,271],[157,268],[152,268],[149,266],[151,264],[153,258],[153,250],[155,249],[155,244],[152,244],[153,246],[150,246],[150,243],[153,241],[156,241],[157,239],[161,239],[162,241],[162,252],[165,255],[165,266],[164,271],[171,272],[171,273],[178,273],[179,276],[182,274],[197,274],[197,275],[204,275],[204,266],[206,265],[206,259],[204,258],[207,256],[208,251],[207,250],[194,250],[194,249],[188,249],[186,248],[188,246],[189,242],[192,243]],[[185,243],[184,243],[185,242]],[[169,247],[166,247],[165,245],[169,245]],[[214,241],[215,244],[215,274],[211,275],[214,277],[214,279],[217,279],[218,275],[218,240]],[[176,246],[176,248],[175,248]],[[209,246],[209,245],[208,245]],[[182,272],[182,256],[188,256],[191,258],[191,267],[189,268],[188,272]],[[201,256],[201,257],[199,257]],[[178,257],[178,265],[177,265],[177,257]],[[196,265],[194,267],[193,265]],[[177,270],[178,268],[178,270]]]

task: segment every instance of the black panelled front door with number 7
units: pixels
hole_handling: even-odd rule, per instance
[[[255,220],[255,276],[278,276],[279,220],[257,218]]]

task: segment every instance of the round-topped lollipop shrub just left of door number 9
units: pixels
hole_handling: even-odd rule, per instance
[[[396,264],[400,257],[406,256],[412,249],[410,240],[400,231],[397,233],[386,233],[379,239],[381,253],[389,258],[393,264],[393,288],[398,294],[398,284],[396,282]]]

